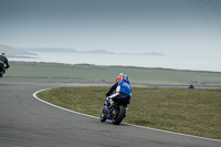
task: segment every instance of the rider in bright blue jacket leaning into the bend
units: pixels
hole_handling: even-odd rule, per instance
[[[113,94],[113,92],[116,91],[116,93]],[[129,99],[131,96],[131,86],[129,84],[129,77],[128,75],[123,75],[123,80],[119,82],[116,82],[109,91],[106,93],[107,101],[109,102],[109,107],[114,105],[114,103],[117,101],[118,97],[125,97]]]

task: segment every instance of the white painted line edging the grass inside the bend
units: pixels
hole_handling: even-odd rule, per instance
[[[43,101],[43,99],[41,99],[41,98],[39,98],[36,96],[38,93],[46,91],[46,90],[50,90],[50,88],[40,90],[40,91],[33,93],[34,98],[36,98],[38,101],[43,102],[43,103],[45,103],[48,105],[51,105],[53,107],[56,107],[56,108],[60,108],[60,109],[63,109],[63,111],[66,111],[66,112],[70,112],[70,113],[74,113],[74,114],[78,114],[78,115],[83,115],[83,116],[87,116],[87,117],[92,117],[92,118],[99,118],[99,117],[96,117],[96,116],[92,116],[92,115],[87,115],[87,114],[74,112],[74,111],[71,111],[71,109],[67,109],[67,108],[64,108],[64,107],[60,107],[57,105],[51,104],[49,102],[45,102],[45,101]],[[193,138],[207,139],[207,140],[213,140],[213,141],[220,141],[221,143],[221,140],[218,140],[218,139],[211,139],[211,138],[206,138],[206,137],[186,135],[186,134],[180,134],[180,133],[173,133],[173,132],[169,132],[169,130],[162,130],[162,129],[157,129],[157,128],[144,127],[144,126],[138,126],[138,125],[133,125],[133,124],[127,124],[127,123],[122,123],[122,124],[125,124],[125,125],[128,125],[128,126],[134,126],[134,127],[139,127],[139,128],[145,128],[145,129],[150,129],[150,130],[156,130],[156,132],[162,132],[162,133],[168,133],[168,134],[175,134],[175,135],[180,135],[180,136],[187,136],[187,137],[193,137]]]

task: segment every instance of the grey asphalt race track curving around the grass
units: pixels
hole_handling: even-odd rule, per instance
[[[0,81],[0,147],[221,147],[220,140],[101,123],[33,97],[61,86],[70,85]]]

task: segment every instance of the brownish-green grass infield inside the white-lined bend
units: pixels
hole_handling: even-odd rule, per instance
[[[60,87],[38,96],[99,116],[108,87]],[[221,139],[221,90],[134,87],[125,123]]]

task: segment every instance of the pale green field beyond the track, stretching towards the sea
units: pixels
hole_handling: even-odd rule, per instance
[[[196,87],[221,88],[221,73],[219,72],[35,62],[10,62],[10,65],[3,81],[109,85],[123,72],[129,75],[133,86],[188,87],[192,83]]]

